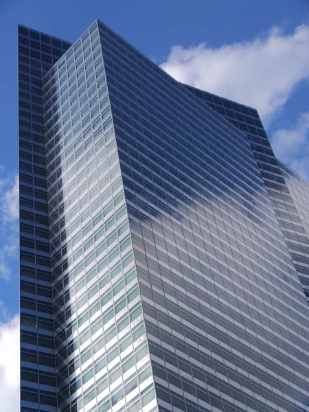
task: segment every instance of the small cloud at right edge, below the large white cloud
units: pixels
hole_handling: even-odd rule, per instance
[[[309,181],[309,111],[290,128],[276,130],[271,145],[280,160]]]

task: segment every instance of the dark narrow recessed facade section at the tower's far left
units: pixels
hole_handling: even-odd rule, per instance
[[[19,26],[21,412],[57,410],[42,77],[68,47]]]

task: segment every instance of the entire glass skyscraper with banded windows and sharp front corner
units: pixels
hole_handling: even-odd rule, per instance
[[[203,100],[100,21],[19,27],[21,412],[309,410],[307,183]]]

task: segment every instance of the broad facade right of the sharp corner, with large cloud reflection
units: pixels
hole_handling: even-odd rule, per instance
[[[100,36],[159,411],[303,411],[308,306],[247,136]]]

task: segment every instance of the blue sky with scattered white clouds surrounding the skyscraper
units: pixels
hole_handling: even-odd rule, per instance
[[[17,25],[73,42],[95,18],[179,80],[258,108],[277,156],[309,176],[308,0],[0,0],[0,351],[8,359],[19,308]],[[0,361],[1,369],[11,402],[17,372]]]

